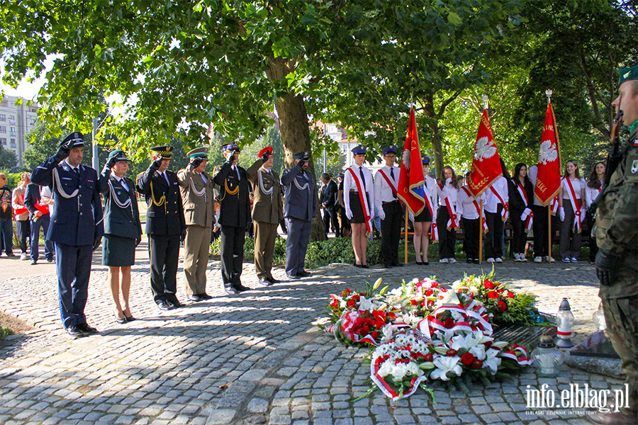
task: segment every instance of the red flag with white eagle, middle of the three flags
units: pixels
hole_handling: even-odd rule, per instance
[[[478,124],[476,144],[474,145],[474,159],[472,160],[472,169],[467,187],[472,196],[477,198],[502,175],[500,156],[498,155],[496,143],[494,143],[490,117],[486,108],[483,109],[481,123]]]

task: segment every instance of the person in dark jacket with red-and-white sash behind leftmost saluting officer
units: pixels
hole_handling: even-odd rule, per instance
[[[30,239],[31,239],[31,266],[35,266],[40,258],[40,228],[45,237],[45,258],[49,263],[53,262],[53,242],[47,240],[47,232],[51,222],[49,205],[42,201],[40,188],[35,183],[29,183],[24,192],[24,206],[29,211]]]

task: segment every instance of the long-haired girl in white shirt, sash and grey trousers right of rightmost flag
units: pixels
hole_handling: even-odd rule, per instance
[[[559,191],[561,219],[561,258],[564,263],[577,263],[581,255],[581,223],[585,220],[586,183],[581,179],[575,161],[565,164],[565,174]],[[578,222],[576,222],[578,220]],[[571,238],[571,240],[570,240]]]

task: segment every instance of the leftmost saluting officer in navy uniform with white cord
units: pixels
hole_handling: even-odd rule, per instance
[[[33,183],[52,186],[54,202],[46,239],[55,244],[62,324],[74,337],[97,332],[86,324],[84,307],[89,297],[93,251],[104,233],[98,176],[94,169],[81,164],[83,148],[82,133],[72,132],[62,140],[55,156],[31,174]]]

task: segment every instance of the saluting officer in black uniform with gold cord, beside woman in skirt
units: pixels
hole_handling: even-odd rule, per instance
[[[153,162],[138,175],[138,192],[145,196],[146,234],[151,263],[151,289],[159,310],[181,307],[177,299],[177,262],[179,242],[186,235],[177,174],[167,168],[171,162],[170,146],[151,148]]]

